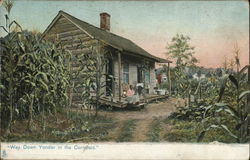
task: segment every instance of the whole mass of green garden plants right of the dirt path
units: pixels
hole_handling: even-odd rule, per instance
[[[249,111],[247,110],[249,102],[247,102],[247,97],[250,91],[245,73],[248,66],[243,67],[242,70],[237,69],[236,73],[232,70],[217,69],[207,73],[205,78],[198,80],[188,76],[190,67],[188,70],[185,68],[185,72],[176,70],[176,68],[172,69],[172,72],[180,77],[180,80],[176,81],[174,85],[179,92],[182,92],[183,97],[188,97],[189,102],[184,106],[179,106],[169,118],[181,120],[180,123],[197,122],[198,125],[202,122],[199,124],[200,129],[197,130],[199,133],[196,133],[198,141],[219,140],[227,143],[249,141]],[[191,96],[194,97],[194,102],[190,101]],[[176,132],[182,131],[177,130]],[[216,133],[221,135],[215,136]],[[180,141],[182,140],[180,139]]]

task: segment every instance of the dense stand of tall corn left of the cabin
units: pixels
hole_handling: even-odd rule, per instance
[[[60,44],[40,41],[39,35],[23,31],[8,34],[0,45],[4,122],[32,119],[42,110],[55,112],[65,106],[69,77],[64,60],[70,55]]]

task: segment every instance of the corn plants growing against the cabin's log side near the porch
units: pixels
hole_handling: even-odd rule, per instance
[[[81,43],[78,47],[86,48],[87,46]],[[82,89],[80,96],[82,106],[88,109],[95,106],[95,116],[97,116],[99,100],[105,94],[104,88],[106,88],[107,81],[104,79],[106,77],[109,77],[108,80],[110,81],[113,79],[112,75],[108,75],[105,71],[108,58],[112,56],[101,43],[98,43],[95,47],[87,48],[88,52],[77,54],[74,58],[76,60],[74,63],[80,64],[81,67],[75,72],[72,79],[79,80],[75,83],[74,91],[77,92]]]

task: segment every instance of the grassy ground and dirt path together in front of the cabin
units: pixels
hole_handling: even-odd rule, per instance
[[[165,119],[175,111],[183,100],[169,98],[150,103],[144,109],[115,109],[98,111],[97,119],[89,119],[94,110],[72,110],[67,119],[66,112],[45,118],[46,130],[42,132],[41,116],[33,120],[32,132],[27,131],[28,120],[13,123],[12,133],[4,135],[3,141],[58,141],[58,142],[159,142],[165,141],[171,126]],[[90,115],[86,116],[86,115]],[[88,125],[84,122],[88,122]],[[101,122],[101,123],[100,123]],[[84,127],[89,127],[85,131]],[[63,136],[62,136],[63,135]]]

